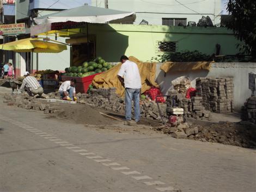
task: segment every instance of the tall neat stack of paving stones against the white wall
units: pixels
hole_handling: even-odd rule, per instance
[[[233,111],[233,78],[197,78],[196,89],[205,109],[215,113]]]

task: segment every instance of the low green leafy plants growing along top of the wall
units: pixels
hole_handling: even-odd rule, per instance
[[[164,53],[151,58],[151,61],[158,61],[160,63],[165,61],[173,62],[193,62],[193,61],[211,61],[210,55],[206,55],[199,51],[182,51],[174,53]]]

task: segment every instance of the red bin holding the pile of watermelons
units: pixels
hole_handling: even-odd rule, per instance
[[[94,75],[90,75],[87,77],[70,77],[70,76],[62,76],[63,82],[65,80],[76,79],[76,92],[84,92],[88,91],[89,85],[93,82],[93,78],[100,73],[95,73]]]

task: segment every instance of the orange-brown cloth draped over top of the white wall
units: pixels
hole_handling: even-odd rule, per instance
[[[200,62],[166,62],[160,67],[164,72],[181,72],[181,71],[196,71],[207,70],[210,71],[211,64],[214,62],[200,61]]]

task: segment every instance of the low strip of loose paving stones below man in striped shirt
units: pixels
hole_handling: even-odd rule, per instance
[[[29,96],[27,92],[23,92],[21,95],[6,94],[4,95],[4,103],[23,109],[41,110],[44,111],[45,114],[60,113],[63,111],[59,103],[48,103],[45,100],[35,99]]]

